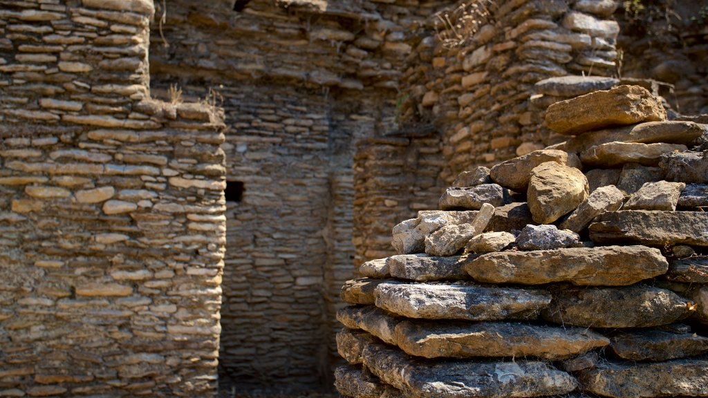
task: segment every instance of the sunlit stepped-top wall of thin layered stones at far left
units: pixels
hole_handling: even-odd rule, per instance
[[[152,1],[0,4],[0,395],[212,396],[219,116],[149,99]]]

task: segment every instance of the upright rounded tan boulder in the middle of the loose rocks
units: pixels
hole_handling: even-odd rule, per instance
[[[553,161],[535,167],[527,191],[533,220],[551,224],[583,203],[589,190],[587,178],[578,169]]]

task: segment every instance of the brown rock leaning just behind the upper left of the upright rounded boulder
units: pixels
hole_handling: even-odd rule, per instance
[[[558,164],[575,167],[576,169],[581,166],[580,159],[574,153],[569,154],[559,149],[539,149],[493,166],[490,176],[492,181],[505,188],[525,192],[529,185],[531,171],[539,164],[547,161],[555,161]]]

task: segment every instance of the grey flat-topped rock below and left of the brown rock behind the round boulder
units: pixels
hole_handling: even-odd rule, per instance
[[[479,210],[484,203],[503,206],[510,203],[509,192],[498,184],[467,188],[450,187],[440,197],[440,210]]]

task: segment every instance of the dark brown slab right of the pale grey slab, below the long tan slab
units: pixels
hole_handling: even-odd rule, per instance
[[[553,292],[542,317],[556,324],[594,328],[651,327],[686,317],[686,300],[666,289],[566,288]]]

